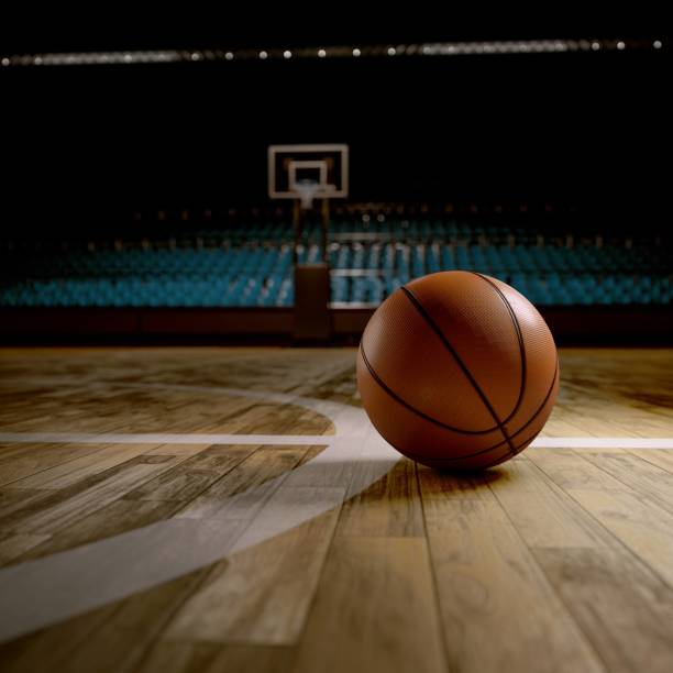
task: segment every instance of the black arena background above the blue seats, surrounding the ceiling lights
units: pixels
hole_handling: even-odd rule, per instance
[[[652,25],[494,31],[3,27],[2,53],[273,48],[453,40],[664,38]],[[663,49],[0,69],[2,228],[266,202],[271,143],[351,145],[356,201],[536,202],[660,227]],[[609,224],[608,224],[609,225]]]

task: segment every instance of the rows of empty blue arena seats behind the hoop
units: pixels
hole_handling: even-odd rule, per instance
[[[254,222],[170,236],[2,242],[0,307],[290,307],[293,230]],[[451,219],[330,224],[332,304],[375,306],[424,274],[468,269],[539,306],[669,305],[673,253],[652,235],[575,235]],[[317,225],[298,250],[322,258]]]

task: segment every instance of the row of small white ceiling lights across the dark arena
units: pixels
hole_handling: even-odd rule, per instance
[[[358,58],[380,56],[467,56],[483,54],[542,54],[624,49],[661,49],[661,40],[528,40],[505,42],[434,42],[377,46],[299,47],[294,49],[126,51],[24,54],[0,58],[2,66],[114,65],[207,60],[266,60],[291,58]]]

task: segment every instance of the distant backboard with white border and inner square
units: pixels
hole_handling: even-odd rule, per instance
[[[271,145],[268,196],[272,199],[338,199],[349,196],[349,146]]]

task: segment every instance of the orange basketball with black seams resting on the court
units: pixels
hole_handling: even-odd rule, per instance
[[[554,340],[509,285],[473,272],[412,280],[376,310],[357,386],[380,434],[441,470],[512,457],[542,430],[559,390]]]

